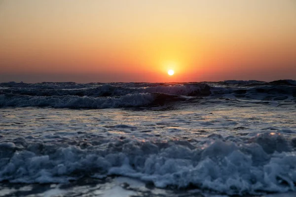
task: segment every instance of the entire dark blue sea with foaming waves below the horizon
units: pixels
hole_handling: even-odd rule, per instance
[[[296,196],[296,81],[0,83],[0,196]]]

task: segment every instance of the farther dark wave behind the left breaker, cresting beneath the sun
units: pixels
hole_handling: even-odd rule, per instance
[[[127,94],[137,94],[137,93],[165,93],[172,95],[183,95],[183,96],[201,96],[210,94],[210,86],[206,84],[177,84],[177,85],[167,85],[167,86],[148,86],[148,87],[130,87],[129,84],[124,84],[124,86],[118,86],[104,84],[97,86],[88,86],[87,88],[76,88],[76,89],[62,89],[45,88],[43,86],[23,86],[23,87],[13,87],[13,88],[2,88],[0,89],[0,94],[14,94],[14,95],[29,95],[29,96],[89,96],[89,97],[113,97],[113,96],[123,96]],[[147,84],[146,84],[147,85]],[[153,84],[152,84],[153,85]],[[52,86],[51,86],[52,87]],[[68,84],[67,84],[68,87]]]

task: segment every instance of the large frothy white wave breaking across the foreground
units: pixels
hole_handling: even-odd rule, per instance
[[[1,142],[0,181],[64,183],[123,175],[159,188],[195,187],[228,195],[295,191],[296,139],[280,133],[236,141],[216,134],[197,143],[106,139],[96,133],[44,138]]]

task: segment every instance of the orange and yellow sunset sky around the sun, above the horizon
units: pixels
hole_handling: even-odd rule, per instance
[[[0,0],[0,82],[229,79],[296,80],[296,0]]]

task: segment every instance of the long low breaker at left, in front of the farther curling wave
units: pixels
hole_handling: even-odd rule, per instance
[[[54,107],[54,108],[115,108],[164,105],[172,101],[184,101],[189,97],[163,93],[138,93],[121,97],[78,97],[78,96],[18,96],[0,95],[0,107]]]

